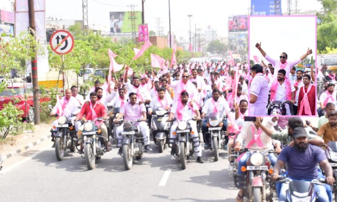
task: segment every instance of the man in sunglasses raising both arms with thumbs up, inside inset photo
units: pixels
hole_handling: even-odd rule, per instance
[[[265,52],[264,50],[261,48],[261,43],[256,43],[255,45],[256,48],[259,49],[260,53],[262,54],[262,56],[264,58],[266,58],[266,60],[268,60],[270,63],[272,63],[274,65],[274,79],[276,79],[277,77],[277,73],[280,69],[284,69],[286,71],[286,77],[290,78],[290,70],[293,66],[295,66],[297,63],[301,62],[302,60],[304,60],[304,58],[306,58],[308,55],[312,54],[312,50],[311,49],[307,49],[306,53],[300,57],[300,59],[294,60],[294,61],[290,61],[288,62],[288,55],[286,53],[281,53],[280,55],[280,60],[278,61],[277,59],[273,59],[270,58]]]

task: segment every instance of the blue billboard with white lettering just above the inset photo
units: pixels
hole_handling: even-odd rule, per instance
[[[251,15],[282,15],[281,0],[251,0]]]

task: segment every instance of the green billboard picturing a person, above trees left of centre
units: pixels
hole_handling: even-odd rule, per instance
[[[125,33],[132,32],[132,18],[135,18],[135,25],[141,24],[141,11],[135,11],[135,16],[129,11],[110,12],[110,32]],[[137,28],[136,28],[137,29]]]

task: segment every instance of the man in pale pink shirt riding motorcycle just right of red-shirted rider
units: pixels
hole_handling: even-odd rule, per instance
[[[144,144],[145,144],[145,150],[152,151],[152,148],[150,146],[150,130],[145,122],[147,120],[146,118],[146,108],[143,103],[139,104],[137,102],[137,94],[132,92],[129,94],[129,102],[125,103],[123,107],[121,108],[120,115],[116,118],[115,122],[118,123],[119,119],[121,119],[124,116],[124,121],[136,121],[141,120],[141,122],[138,122],[136,125],[139,126],[140,132],[144,137]],[[118,144],[117,146],[120,147],[118,150],[118,154],[121,155],[123,152],[122,147],[122,131],[123,126],[119,126],[116,130],[117,138],[118,138]]]

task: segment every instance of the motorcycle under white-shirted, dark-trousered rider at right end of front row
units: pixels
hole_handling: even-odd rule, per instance
[[[208,131],[212,138],[210,149],[214,152],[215,161],[218,161],[218,149],[220,149],[223,145],[221,144],[221,140],[224,139],[222,138],[222,136],[224,136],[224,133],[221,130],[223,126],[222,119],[223,117],[220,113],[210,113],[208,116],[206,116]]]

